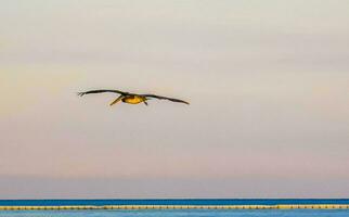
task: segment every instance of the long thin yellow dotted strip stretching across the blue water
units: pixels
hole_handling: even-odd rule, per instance
[[[74,205],[74,206],[0,206],[0,210],[78,210],[78,209],[349,209],[349,204],[307,205]]]

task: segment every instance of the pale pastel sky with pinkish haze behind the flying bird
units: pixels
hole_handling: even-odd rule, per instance
[[[0,199],[349,196],[347,0],[0,0]]]

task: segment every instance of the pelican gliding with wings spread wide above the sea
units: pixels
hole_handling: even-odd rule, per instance
[[[184,103],[189,104],[188,102],[174,98],[166,98],[161,95],[156,95],[156,94],[137,94],[137,93],[131,93],[131,92],[124,92],[120,90],[90,90],[86,92],[78,92],[78,95],[82,97],[86,94],[93,94],[93,93],[104,93],[104,92],[113,92],[120,94],[118,98],[116,98],[109,105],[114,105],[118,102],[124,102],[124,103],[129,103],[129,104],[139,104],[143,102],[145,105],[147,105],[147,100],[151,99],[158,99],[158,100],[169,100],[172,102],[179,102],[179,103]]]

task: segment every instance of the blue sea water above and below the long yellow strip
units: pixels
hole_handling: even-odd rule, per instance
[[[338,200],[0,200],[0,206],[349,204]],[[349,217],[349,209],[4,210],[1,217]]]

